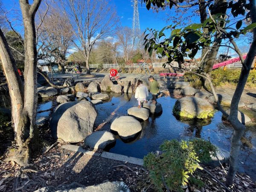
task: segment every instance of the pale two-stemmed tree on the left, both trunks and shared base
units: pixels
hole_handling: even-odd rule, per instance
[[[7,41],[2,31],[0,31],[0,55],[8,81],[12,103],[12,120],[15,128],[15,140],[19,147],[10,160],[15,160],[21,166],[28,165],[31,155],[38,147],[38,132],[35,125],[37,108],[35,13],[40,3],[41,0],[34,0],[32,5],[29,5],[27,0],[20,0],[25,39],[24,87],[17,73],[17,67],[7,45]]]

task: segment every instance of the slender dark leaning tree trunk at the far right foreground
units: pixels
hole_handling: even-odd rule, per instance
[[[250,13],[252,23],[256,23],[256,0],[250,0]],[[241,147],[241,137],[244,134],[245,126],[238,120],[238,105],[241,95],[244,90],[244,86],[248,79],[250,68],[252,67],[254,57],[256,56],[256,28],[253,29],[253,43],[250,46],[247,57],[244,61],[244,66],[242,67],[241,74],[239,77],[238,84],[236,86],[235,93],[233,95],[231,105],[230,105],[230,116],[228,120],[231,122],[234,132],[231,140],[231,150],[230,150],[230,165],[227,173],[226,185],[232,186],[233,180],[238,169],[238,156]]]

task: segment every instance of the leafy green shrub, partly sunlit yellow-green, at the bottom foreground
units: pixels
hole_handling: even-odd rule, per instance
[[[215,156],[216,148],[211,143],[201,140],[164,141],[160,145],[163,153],[149,153],[144,157],[144,166],[150,171],[150,177],[159,191],[168,186],[171,191],[182,192],[182,185],[189,183],[196,169],[202,169],[198,162],[210,160],[210,155]],[[193,183],[202,182],[193,178]]]

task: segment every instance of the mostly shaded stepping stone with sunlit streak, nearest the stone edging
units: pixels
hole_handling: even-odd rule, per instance
[[[84,145],[90,148],[105,149],[108,145],[114,143],[116,137],[109,131],[94,131],[84,139]]]

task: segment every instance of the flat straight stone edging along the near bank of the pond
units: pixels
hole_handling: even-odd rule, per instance
[[[128,157],[125,155],[110,153],[106,151],[103,151],[102,153],[95,153],[93,151],[85,150],[80,146],[70,145],[70,144],[62,145],[61,148],[67,149],[69,151],[81,152],[83,154],[87,154],[90,156],[104,157],[107,159],[118,160],[118,161],[123,161],[123,162],[132,163],[135,165],[143,166],[143,159],[136,158],[136,157]]]

